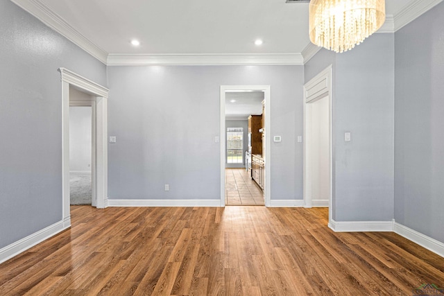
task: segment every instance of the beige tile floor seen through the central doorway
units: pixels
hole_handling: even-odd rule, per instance
[[[264,193],[245,168],[225,168],[225,204],[264,205]]]

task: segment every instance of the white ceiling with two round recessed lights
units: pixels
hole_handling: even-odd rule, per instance
[[[309,3],[285,3],[285,0],[12,1],[25,9],[36,6],[62,24],[69,24],[70,29],[106,54],[289,54],[301,53],[309,44]],[[408,4],[427,1],[386,0],[386,15],[393,19],[392,16]],[[141,46],[131,46],[133,38],[140,40]],[[262,46],[255,46],[257,38],[264,40]]]

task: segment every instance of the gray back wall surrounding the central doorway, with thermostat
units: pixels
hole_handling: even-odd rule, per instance
[[[271,198],[302,199],[302,66],[108,67],[108,81],[110,199],[221,198],[221,85],[271,85]]]

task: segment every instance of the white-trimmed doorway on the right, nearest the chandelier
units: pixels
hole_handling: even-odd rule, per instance
[[[332,67],[304,85],[304,203],[332,219]]]

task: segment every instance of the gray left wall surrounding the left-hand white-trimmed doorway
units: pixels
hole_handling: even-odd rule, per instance
[[[0,1],[0,248],[62,220],[61,79],[105,85],[98,60]]]

